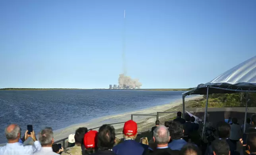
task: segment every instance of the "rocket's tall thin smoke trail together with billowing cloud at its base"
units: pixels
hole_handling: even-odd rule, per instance
[[[126,44],[125,44],[125,10],[124,10],[124,29],[123,29],[123,52],[122,52],[122,58],[123,58],[123,74],[119,75],[118,78],[118,84],[120,88],[138,88],[142,86],[142,83],[139,82],[138,79],[132,79],[130,76],[126,76],[126,61],[125,61],[125,49],[126,49]]]

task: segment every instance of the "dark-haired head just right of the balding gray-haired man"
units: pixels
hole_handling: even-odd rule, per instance
[[[183,126],[179,122],[174,121],[173,123],[171,123],[171,125],[169,126],[169,131],[172,140],[180,139],[184,136]]]

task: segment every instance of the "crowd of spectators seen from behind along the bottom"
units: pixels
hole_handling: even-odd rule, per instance
[[[253,155],[256,154],[256,115],[250,122],[240,126],[237,119],[232,123],[220,121],[215,130],[207,127],[214,134],[200,136],[200,125],[195,117],[177,113],[172,121],[155,121],[149,137],[142,137],[137,142],[138,125],[129,120],[124,123],[123,140],[116,138],[113,126],[102,125],[98,131],[81,127],[75,134],[68,136],[68,148],[54,144],[52,128],[41,130],[39,140],[32,131],[25,131],[21,138],[21,129],[16,124],[8,125],[5,135],[8,143],[0,147],[0,155]],[[242,131],[246,127],[246,133]],[[28,138],[32,145],[24,145]],[[211,137],[211,138],[209,138]]]

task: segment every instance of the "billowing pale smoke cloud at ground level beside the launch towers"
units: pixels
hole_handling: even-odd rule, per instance
[[[142,83],[139,82],[139,79],[132,79],[130,76],[125,76],[124,74],[119,74],[118,84],[120,88],[135,89],[142,86]]]

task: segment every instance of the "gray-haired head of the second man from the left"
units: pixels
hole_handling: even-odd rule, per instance
[[[52,144],[53,132],[52,129],[45,128],[41,131],[39,141],[42,146],[47,146]]]

